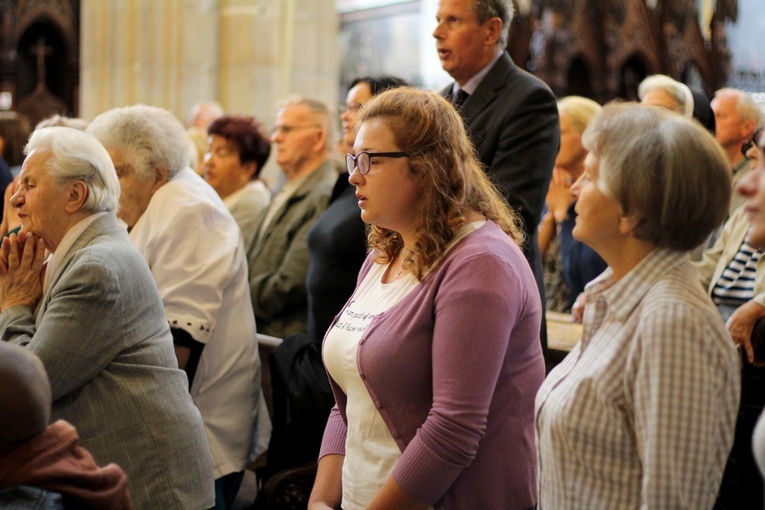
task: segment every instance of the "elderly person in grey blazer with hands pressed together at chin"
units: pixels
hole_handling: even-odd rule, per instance
[[[209,508],[202,421],[149,268],[117,222],[109,154],[64,127],[35,131],[26,153],[11,201],[22,229],[0,249],[0,339],[42,360],[52,417],[125,470],[134,508]]]

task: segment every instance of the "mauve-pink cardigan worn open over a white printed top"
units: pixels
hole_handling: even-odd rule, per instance
[[[526,259],[488,221],[372,320],[357,364],[402,451],[393,477],[407,494],[447,510],[534,506],[541,317]],[[345,451],[346,396],[330,383],[320,456]]]

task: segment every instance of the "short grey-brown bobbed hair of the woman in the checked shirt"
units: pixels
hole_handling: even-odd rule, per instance
[[[687,251],[725,220],[728,160],[697,122],[663,108],[610,104],[582,143],[598,157],[598,187],[637,220],[636,238]]]

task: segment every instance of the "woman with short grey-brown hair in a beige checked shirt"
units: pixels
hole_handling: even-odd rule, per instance
[[[728,212],[725,155],[698,123],[636,104],[604,107],[582,141],[573,235],[609,267],[537,394],[539,508],[712,508],[740,375],[687,252]]]

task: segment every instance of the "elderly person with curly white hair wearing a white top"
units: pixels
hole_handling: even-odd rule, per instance
[[[96,117],[87,132],[114,162],[122,188],[119,215],[149,263],[178,363],[202,413],[216,506],[230,508],[245,466],[265,449],[264,427],[270,432],[267,413],[259,411],[265,401],[239,226],[216,191],[188,167],[183,125],[169,111],[115,108]]]

